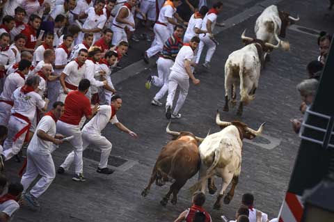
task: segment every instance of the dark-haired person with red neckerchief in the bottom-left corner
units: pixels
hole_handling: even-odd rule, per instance
[[[20,183],[12,183],[8,186],[8,193],[0,198],[0,221],[10,221],[13,214],[19,209],[23,186]]]

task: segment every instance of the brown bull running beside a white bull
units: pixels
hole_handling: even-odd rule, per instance
[[[154,165],[148,187],[141,193],[142,196],[147,196],[154,181],[160,187],[164,186],[166,182],[172,182],[168,193],[160,202],[163,206],[167,205],[171,193],[173,193],[173,199],[170,202],[175,205],[177,193],[186,184],[186,181],[198,172],[200,168],[198,143],[203,140],[191,132],[170,131],[169,125],[170,123],[166,132],[173,135],[175,140],[170,141],[162,148]]]

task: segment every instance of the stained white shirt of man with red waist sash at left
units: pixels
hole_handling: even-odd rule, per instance
[[[29,118],[32,122],[33,117],[35,116],[36,107],[42,109],[45,106],[45,101],[42,100],[42,97],[40,97],[38,93],[22,93],[21,88],[22,87],[17,88],[12,95],[14,106],[11,113],[19,113]]]

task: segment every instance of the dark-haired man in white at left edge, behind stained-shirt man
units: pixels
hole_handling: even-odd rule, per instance
[[[19,62],[18,70],[6,77],[5,86],[3,86],[3,91],[0,95],[0,125],[8,125],[10,110],[14,105],[14,101],[12,100],[13,92],[17,88],[24,86],[30,65],[30,61],[22,60]]]

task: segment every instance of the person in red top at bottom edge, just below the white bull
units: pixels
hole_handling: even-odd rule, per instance
[[[180,221],[193,221],[196,212],[202,212],[205,214],[205,222],[212,221],[210,214],[202,207],[205,203],[205,194],[198,191],[193,193],[193,205],[182,212],[174,222]]]

